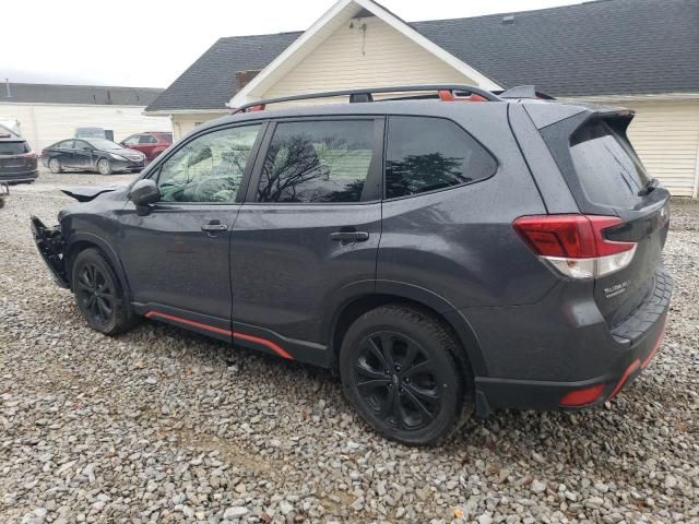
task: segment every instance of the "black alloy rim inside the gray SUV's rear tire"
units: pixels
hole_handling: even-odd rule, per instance
[[[415,430],[428,426],[441,407],[439,371],[424,349],[390,331],[360,343],[354,367],[363,400],[389,426]]]

